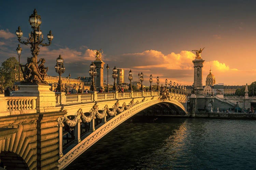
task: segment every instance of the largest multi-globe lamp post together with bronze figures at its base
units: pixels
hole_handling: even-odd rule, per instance
[[[18,30],[15,32],[18,37],[19,43],[24,45],[30,44],[31,46],[30,51],[31,51],[32,57],[27,58],[26,65],[20,65],[20,67],[25,67],[24,70],[22,69],[23,78],[24,78],[24,81],[22,81],[22,83],[48,84],[46,81],[44,81],[44,77],[46,75],[45,68],[42,68],[44,70],[40,70],[40,68],[38,67],[37,56],[40,52],[39,46],[51,45],[53,40],[53,34],[52,34],[52,31],[49,31],[49,34],[47,34],[49,43],[48,44],[43,43],[43,40],[44,40],[43,34],[42,34],[42,31],[40,30],[41,22],[42,22],[41,16],[38,15],[37,10],[34,9],[33,14],[29,16],[29,24],[31,25],[31,28],[32,28],[31,33],[29,33],[29,38],[26,39],[26,41],[21,40],[21,37],[23,36],[23,31],[20,29],[20,27],[18,27]],[[42,61],[42,59],[40,59],[40,61]]]

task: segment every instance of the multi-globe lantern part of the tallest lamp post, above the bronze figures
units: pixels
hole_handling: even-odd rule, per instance
[[[30,47],[31,50],[30,51],[31,51],[31,54],[33,56],[33,60],[35,62],[37,62],[37,56],[40,52],[39,51],[39,49],[40,49],[39,46],[40,45],[41,46],[49,46],[49,45],[51,45],[52,40],[53,40],[52,31],[49,31],[49,34],[47,34],[47,38],[48,38],[49,43],[48,44],[42,43],[44,39],[43,39],[42,31],[40,30],[40,27],[39,27],[41,25],[41,22],[42,22],[41,21],[41,16],[38,15],[37,11],[34,9],[33,14],[31,14],[29,16],[29,24],[31,25],[31,28],[32,28],[32,32],[29,33],[29,38],[26,41],[21,41],[21,37],[23,35],[23,32],[20,29],[20,27],[18,27],[18,30],[16,31],[16,35],[18,37],[19,43],[24,44],[24,45],[28,45],[28,44],[31,45],[31,47]],[[32,74],[33,74],[32,76],[40,75],[39,71],[37,71],[37,70],[33,70]],[[41,77],[39,77],[39,79],[40,79],[41,82],[46,83],[41,79]],[[29,78],[28,78],[28,80],[29,80]]]

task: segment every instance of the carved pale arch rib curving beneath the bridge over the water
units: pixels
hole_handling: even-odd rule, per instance
[[[122,104],[121,100],[118,102],[120,102],[120,105]],[[64,155],[59,159],[59,165],[58,165],[59,169],[63,169],[67,167],[76,157],[81,155],[90,146],[96,143],[100,138],[102,138],[108,132],[116,128],[119,124],[129,119],[131,116],[137,114],[138,112],[142,111],[145,108],[148,108],[152,105],[162,103],[162,102],[172,103],[176,107],[179,107],[181,110],[183,110],[185,114],[187,114],[186,109],[182,104],[186,102],[185,98],[182,99],[182,101],[175,100],[175,99],[162,101],[160,99],[153,99],[153,98],[148,100],[142,100],[141,102],[138,101],[136,102],[137,104],[133,105],[129,109],[124,110],[121,113],[118,113],[116,116],[107,120],[107,122],[105,122],[103,125],[99,126],[98,128],[95,128],[95,130],[89,135],[85,136],[84,138],[81,137],[81,142],[74,145],[73,149],[66,151]],[[85,113],[85,112],[88,112],[88,111],[85,111],[85,110],[82,111],[82,113]]]

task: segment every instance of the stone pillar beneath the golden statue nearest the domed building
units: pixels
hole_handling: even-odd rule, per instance
[[[195,91],[199,91],[199,94],[203,94],[203,62],[204,60],[200,57],[196,57],[195,60],[192,61],[194,64],[194,84]],[[198,93],[198,92],[197,92]],[[196,94],[197,94],[196,93]]]

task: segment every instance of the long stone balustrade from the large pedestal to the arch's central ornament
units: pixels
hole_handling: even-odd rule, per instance
[[[176,94],[177,95],[177,94]],[[159,96],[158,91],[132,91],[132,92],[109,92],[109,93],[86,93],[86,94],[64,94],[63,92],[56,92],[56,104],[73,104],[91,101],[104,101],[104,100],[114,100],[114,99],[129,99],[137,97],[150,97]]]

